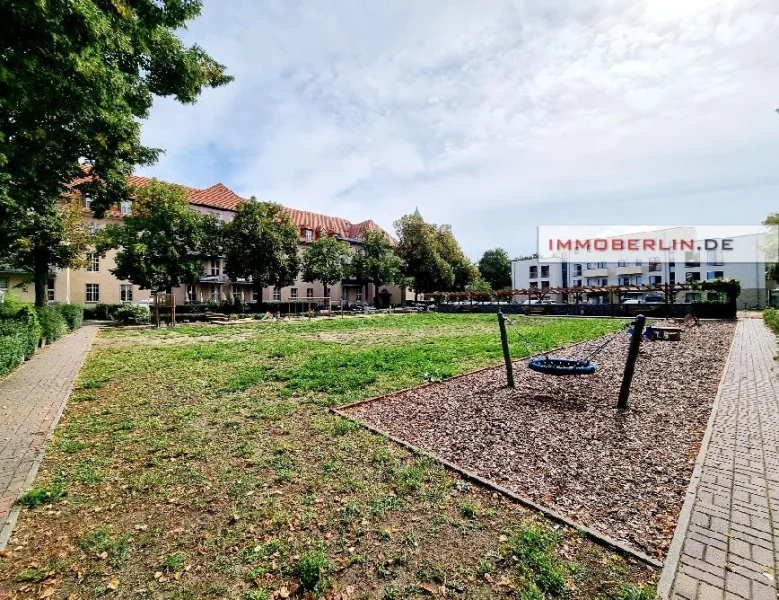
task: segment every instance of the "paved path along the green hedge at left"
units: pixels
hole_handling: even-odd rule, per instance
[[[96,332],[82,327],[0,380],[0,548],[16,524],[14,503],[35,479]]]

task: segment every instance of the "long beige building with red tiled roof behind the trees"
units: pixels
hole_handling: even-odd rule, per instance
[[[136,186],[147,184],[150,179],[131,176],[130,182]],[[187,193],[187,199],[193,210],[214,214],[221,221],[232,220],[238,205],[247,202],[246,198],[221,183],[209,188],[196,189],[181,186]],[[132,202],[122,202],[120,206],[109,211],[105,218],[95,219],[92,216],[90,200],[82,195],[84,220],[92,228],[104,227],[108,223],[121,223],[122,219],[132,214]],[[299,232],[299,248],[301,253],[306,245],[319,239],[323,233],[337,237],[349,244],[352,251],[357,251],[362,244],[362,232],[383,231],[371,220],[361,223],[303,211],[286,208],[292,222]],[[151,296],[149,290],[142,290],[129,281],[120,281],[110,270],[115,266],[115,252],[109,252],[104,257],[94,254],[87,256],[87,264],[82,269],[54,269],[49,279],[48,300],[50,302],[73,302],[86,306],[93,304],[120,304],[138,302]],[[225,274],[223,258],[204,260],[204,272],[200,281],[194,285],[182,286],[174,290],[179,304],[194,302],[224,302],[240,298],[244,302],[280,301],[288,302],[304,298],[321,298],[324,296],[324,285],[321,282],[305,282],[300,277],[288,287],[281,289],[265,288],[256,292],[251,281],[246,279],[232,280]],[[26,274],[20,270],[0,266],[0,292],[11,291],[24,299],[34,299],[32,284],[24,284]],[[367,293],[360,282],[345,279],[330,286],[329,296],[333,300],[341,300],[350,304],[370,303],[374,301],[373,285],[369,285]],[[381,286],[379,289],[379,304],[389,305],[404,303],[407,292],[398,286]],[[413,293],[413,292],[412,292]]]

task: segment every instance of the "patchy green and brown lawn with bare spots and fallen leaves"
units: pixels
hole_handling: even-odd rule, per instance
[[[549,348],[621,325],[521,321]],[[494,315],[103,332],[23,499],[0,589],[653,598],[642,585],[656,572],[327,410],[500,360]]]

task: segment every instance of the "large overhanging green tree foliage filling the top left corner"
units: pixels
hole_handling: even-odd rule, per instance
[[[200,8],[199,0],[0,2],[0,260],[14,232],[48,219],[74,180],[98,217],[129,197],[126,176],[159,153],[140,135],[154,96],[192,103],[204,87],[230,81],[176,35]]]

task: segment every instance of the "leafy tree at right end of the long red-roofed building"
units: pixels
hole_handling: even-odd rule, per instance
[[[462,291],[478,270],[467,259],[451,227],[426,223],[421,217],[406,215],[395,222],[400,242],[398,255],[405,274],[414,280],[415,293]]]

